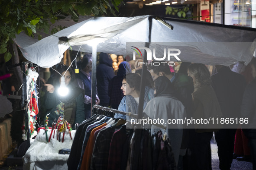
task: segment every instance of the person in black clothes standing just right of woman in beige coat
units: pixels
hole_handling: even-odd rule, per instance
[[[212,87],[217,95],[223,118],[239,117],[246,81],[242,75],[231,71],[227,66],[215,67],[218,73],[211,76]],[[236,130],[220,129],[214,133],[221,170],[229,170],[231,167]]]

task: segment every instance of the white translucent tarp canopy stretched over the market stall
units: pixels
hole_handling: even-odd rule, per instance
[[[127,42],[141,42],[141,47],[144,42],[157,42],[149,48],[178,48],[181,61],[208,65],[229,66],[238,61],[247,64],[253,57],[256,31],[252,28],[165,19],[173,25],[172,30],[154,17],[150,27],[149,17],[152,16],[86,17],[83,22],[40,41],[25,34],[16,35],[16,44],[27,60],[41,67],[59,63],[70,46],[72,50],[81,46],[80,51],[92,52],[88,44],[95,41],[99,42],[97,52],[123,55],[132,54],[131,48],[126,47]],[[59,42],[59,37],[68,37],[68,43]],[[161,51],[158,55],[163,55]]]

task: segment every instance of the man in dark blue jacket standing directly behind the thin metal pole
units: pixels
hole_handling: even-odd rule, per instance
[[[92,55],[85,54],[81,61],[81,69],[76,74],[75,86],[84,89],[84,116],[85,119],[91,117],[91,70],[92,70]],[[97,96],[96,88],[96,104],[100,104],[100,99]]]

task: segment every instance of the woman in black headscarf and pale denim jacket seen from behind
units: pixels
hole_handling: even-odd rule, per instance
[[[175,98],[174,87],[170,80],[165,76],[160,76],[155,80],[155,98],[150,100],[143,110],[145,117],[149,117],[152,120],[170,120],[170,119],[185,119],[186,111],[185,107],[177,98]],[[181,148],[183,126],[182,124],[169,124],[166,123],[167,135],[171,140],[171,145],[175,157],[176,166],[178,164],[178,157]],[[176,126],[177,125],[177,126]],[[172,126],[172,129],[171,129]],[[174,128],[174,129],[173,129]],[[158,127],[152,125],[151,133],[157,132]],[[165,133],[161,129],[163,134]]]

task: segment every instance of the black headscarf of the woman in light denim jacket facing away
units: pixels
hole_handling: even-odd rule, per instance
[[[156,89],[155,97],[158,97],[158,96],[175,97],[174,87],[167,77],[165,76],[158,77],[155,80],[154,85]]]

